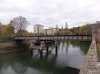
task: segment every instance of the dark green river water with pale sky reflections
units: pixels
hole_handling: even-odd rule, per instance
[[[37,50],[0,54],[0,74],[79,74],[90,42],[58,42],[58,53],[50,47],[43,57]]]

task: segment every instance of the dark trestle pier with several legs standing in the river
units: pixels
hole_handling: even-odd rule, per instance
[[[55,55],[58,54],[58,46],[57,46],[57,41],[40,41],[38,46],[35,46],[33,42],[30,42],[30,53],[33,55],[33,48],[38,49],[39,51],[39,56],[40,58],[43,58],[43,51],[46,51],[46,56],[48,56],[52,49],[49,50],[49,47],[53,46],[55,50]]]

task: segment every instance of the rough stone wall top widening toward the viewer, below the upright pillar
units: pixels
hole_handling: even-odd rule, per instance
[[[80,74],[100,74],[95,39],[92,40],[84,64],[80,69]]]

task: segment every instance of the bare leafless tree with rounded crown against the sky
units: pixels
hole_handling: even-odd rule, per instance
[[[15,31],[19,31],[19,30],[25,30],[29,25],[29,23],[25,17],[18,16],[10,21],[10,25],[14,28]]]

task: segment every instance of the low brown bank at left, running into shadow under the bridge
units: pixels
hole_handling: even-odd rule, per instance
[[[0,43],[0,53],[26,51],[29,44]]]

